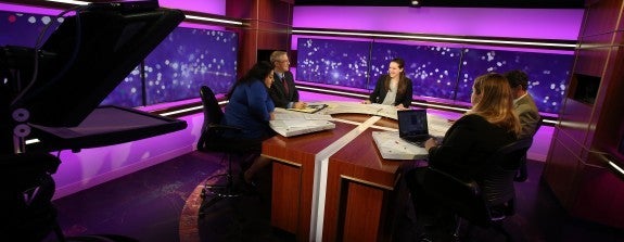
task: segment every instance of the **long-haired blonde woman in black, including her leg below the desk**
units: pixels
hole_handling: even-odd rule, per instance
[[[498,149],[514,142],[521,131],[513,112],[513,95],[505,76],[489,73],[476,77],[472,86],[472,109],[446,131],[442,143],[430,139],[424,143],[429,165],[457,177],[479,182],[486,161]],[[448,227],[453,215],[426,195],[423,187],[424,168],[406,170],[417,221],[424,234]]]

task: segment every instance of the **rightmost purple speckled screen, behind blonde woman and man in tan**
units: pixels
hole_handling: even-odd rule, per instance
[[[529,92],[540,112],[558,113],[569,85],[574,55],[464,49],[457,101],[470,102],[474,78],[488,72],[524,71]]]

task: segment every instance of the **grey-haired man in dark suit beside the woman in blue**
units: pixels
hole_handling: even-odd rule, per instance
[[[293,74],[289,71],[290,62],[285,51],[273,51],[270,62],[275,65],[273,84],[269,94],[277,107],[304,109],[306,104],[300,102],[300,93],[295,87]]]

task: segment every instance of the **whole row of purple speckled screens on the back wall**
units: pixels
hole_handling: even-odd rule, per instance
[[[525,52],[499,49],[416,46],[298,38],[297,80],[348,88],[374,89],[394,58],[405,60],[413,94],[470,103],[474,78],[488,72],[521,69],[540,112],[558,113],[569,84],[571,52]],[[368,48],[370,48],[370,56]],[[370,65],[370,68],[368,68]],[[370,73],[370,78],[367,78]]]

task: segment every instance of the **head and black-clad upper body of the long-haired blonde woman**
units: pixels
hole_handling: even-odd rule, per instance
[[[520,120],[513,112],[513,95],[507,79],[496,73],[476,77],[470,97],[472,109],[448,129],[441,144],[424,143],[430,164],[462,175],[473,174],[480,163],[499,148],[518,139]]]

